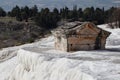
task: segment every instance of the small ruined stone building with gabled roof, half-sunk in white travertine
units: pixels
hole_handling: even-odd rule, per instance
[[[62,51],[105,49],[110,32],[90,22],[70,22],[52,31],[55,48]]]

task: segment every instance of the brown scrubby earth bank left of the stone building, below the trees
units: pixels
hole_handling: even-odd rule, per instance
[[[0,21],[0,48],[34,42],[47,32],[31,22]]]

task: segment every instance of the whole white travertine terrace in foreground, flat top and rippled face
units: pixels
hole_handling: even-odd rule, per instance
[[[89,76],[92,76],[92,79],[90,78],[90,80],[120,79],[120,53],[117,51],[99,50],[65,53],[56,51],[54,49],[51,50],[50,48],[40,49],[35,47],[26,47],[18,51],[17,57],[19,60],[19,65],[13,72],[10,80],[19,80],[19,78],[22,80],[32,80],[32,77],[38,78],[38,76],[39,79],[45,80],[46,78],[50,78],[50,75],[52,75],[52,80],[56,80],[56,77],[59,77],[59,79],[61,79],[61,77],[58,76],[59,74],[61,74],[61,76],[65,75],[64,73],[61,73],[61,71],[65,71],[67,73],[67,71],[69,72],[71,69],[73,69],[72,72],[74,74],[77,74],[77,70],[78,72],[80,71],[79,74],[83,72]],[[55,75],[53,77],[54,72],[56,73],[56,77]],[[36,74],[32,75],[31,77],[31,74],[33,73]],[[25,75],[27,76],[25,77]],[[76,77],[78,78],[78,76]],[[87,78],[87,80],[89,79]]]

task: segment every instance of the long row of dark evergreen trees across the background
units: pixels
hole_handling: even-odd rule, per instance
[[[50,10],[49,8],[42,8],[39,11],[36,5],[31,8],[29,8],[28,6],[15,6],[9,12],[6,12],[0,7],[0,17],[15,17],[16,20],[25,22],[28,22],[28,20],[30,19],[35,21],[37,25],[45,29],[51,29],[57,27],[57,23],[61,20],[79,20],[82,22],[91,21],[97,25],[104,24],[110,21],[114,22],[116,19],[113,20],[111,15],[113,15],[114,13],[115,16],[116,10],[117,8],[115,7],[111,7],[105,10],[104,8],[87,7],[85,9],[82,9],[77,8],[77,6],[73,6],[73,9],[69,9],[68,7],[63,7],[61,9],[54,8],[53,10]],[[119,16],[119,13],[117,16]]]

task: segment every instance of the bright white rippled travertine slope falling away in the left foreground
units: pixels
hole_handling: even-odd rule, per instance
[[[95,80],[76,67],[76,61],[67,58],[19,50],[18,59],[19,65],[9,80]]]

